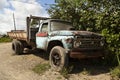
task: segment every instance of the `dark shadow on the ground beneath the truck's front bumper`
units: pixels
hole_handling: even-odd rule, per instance
[[[88,72],[89,75],[99,75],[108,73],[110,66],[104,64],[102,59],[84,59],[84,60],[71,60],[70,66],[73,66],[71,74],[77,74],[81,72]]]

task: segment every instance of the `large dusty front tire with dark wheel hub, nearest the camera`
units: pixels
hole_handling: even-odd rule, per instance
[[[49,56],[51,69],[61,71],[68,66],[68,55],[65,49],[60,46],[52,48]]]

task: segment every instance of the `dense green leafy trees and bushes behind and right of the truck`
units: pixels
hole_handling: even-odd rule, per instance
[[[52,18],[71,21],[79,30],[90,30],[106,37],[106,51],[120,65],[120,0],[59,0],[50,5]]]

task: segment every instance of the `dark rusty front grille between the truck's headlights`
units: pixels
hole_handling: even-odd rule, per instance
[[[79,48],[98,49],[101,48],[101,37],[97,36],[77,36],[75,41],[79,44]],[[75,45],[75,44],[74,44]]]

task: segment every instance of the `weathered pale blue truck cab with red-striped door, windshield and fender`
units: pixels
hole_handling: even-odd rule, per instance
[[[52,41],[56,44],[57,42],[61,43],[63,45],[63,39],[71,37],[70,35],[62,34],[59,35],[60,31],[66,31],[70,30],[72,27],[70,22],[62,21],[62,20],[55,20],[50,19],[45,22],[43,22],[40,27],[39,31],[36,34],[36,44],[37,48],[41,48],[43,50],[47,50],[49,43]],[[51,45],[52,46],[52,45]],[[65,48],[67,48],[66,45],[63,45]]]

